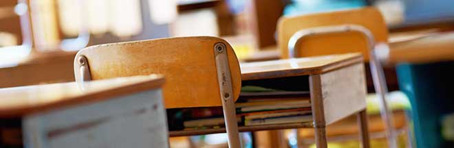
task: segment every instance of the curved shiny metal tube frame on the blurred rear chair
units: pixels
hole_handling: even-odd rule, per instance
[[[295,56],[298,55],[296,53],[297,49],[300,49],[301,40],[303,40],[303,38],[306,38],[307,36],[342,32],[358,32],[367,39],[370,58],[369,64],[371,68],[372,79],[374,81],[376,93],[378,97],[380,97],[380,115],[385,122],[386,136],[389,141],[389,147],[397,147],[396,132],[392,125],[392,112],[389,111],[386,99],[388,88],[386,85],[385,74],[383,73],[381,63],[376,56],[376,42],[374,40],[374,35],[369,31],[369,29],[360,25],[335,25],[301,29],[299,32],[294,33],[288,42],[289,57],[295,58]]]

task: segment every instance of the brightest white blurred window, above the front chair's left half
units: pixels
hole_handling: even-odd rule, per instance
[[[58,0],[58,11],[62,32],[67,36],[77,36],[82,29],[120,37],[142,32],[140,0]]]

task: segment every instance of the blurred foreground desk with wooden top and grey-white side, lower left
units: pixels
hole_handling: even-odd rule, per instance
[[[0,147],[168,147],[158,75],[0,89]],[[23,140],[20,140],[20,139]]]

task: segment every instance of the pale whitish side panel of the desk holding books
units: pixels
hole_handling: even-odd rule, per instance
[[[366,108],[366,82],[363,63],[321,75],[326,125]]]

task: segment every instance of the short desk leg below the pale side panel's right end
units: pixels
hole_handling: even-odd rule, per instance
[[[356,120],[358,121],[359,127],[359,137],[361,141],[361,146],[363,148],[369,148],[369,130],[367,126],[367,113],[366,110],[362,110],[356,114]]]

